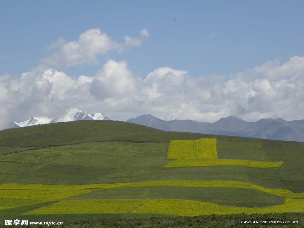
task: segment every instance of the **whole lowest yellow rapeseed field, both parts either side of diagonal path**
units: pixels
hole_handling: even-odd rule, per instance
[[[211,202],[183,199],[92,199],[64,200],[24,215],[34,214],[99,214],[153,213],[176,216],[198,216],[238,213],[304,212],[304,199],[285,199],[284,204],[268,207],[221,206]]]

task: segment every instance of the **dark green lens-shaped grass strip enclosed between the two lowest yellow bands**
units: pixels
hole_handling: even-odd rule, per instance
[[[244,188],[197,188],[145,186],[101,189],[62,200],[73,199],[185,199],[212,202],[222,206],[266,207],[283,204],[285,198]]]

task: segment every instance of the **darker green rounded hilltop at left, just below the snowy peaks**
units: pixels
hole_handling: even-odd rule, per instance
[[[58,146],[111,140],[117,136],[145,132],[160,132],[160,130],[120,121],[83,120],[2,130],[0,145]]]

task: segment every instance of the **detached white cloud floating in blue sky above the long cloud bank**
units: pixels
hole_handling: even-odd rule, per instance
[[[48,48],[60,47],[60,50],[50,56],[40,60],[43,64],[52,66],[66,67],[77,66],[81,64],[98,64],[98,57],[107,54],[111,50],[122,52],[126,46],[140,46],[145,36],[148,36],[148,30],[143,29],[140,32],[139,39],[133,39],[130,36],[125,37],[125,43],[113,41],[107,33],[102,33],[100,29],[89,29],[79,36],[77,41],[65,43],[63,38],[52,43]]]

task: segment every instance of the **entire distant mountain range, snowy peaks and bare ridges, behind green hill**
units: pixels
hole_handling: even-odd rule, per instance
[[[48,118],[45,116],[32,117],[20,123],[10,122],[4,129],[33,126],[38,124],[68,122],[76,120],[110,120],[102,113],[87,114],[77,108],[71,108],[62,116]],[[260,139],[304,142],[304,119],[286,121],[284,119],[260,119],[257,122],[247,122],[237,116],[221,118],[214,123],[198,122],[195,120],[165,121],[151,115],[142,115],[128,119],[126,122],[136,123],[163,131],[193,132],[213,135],[242,136]]]

